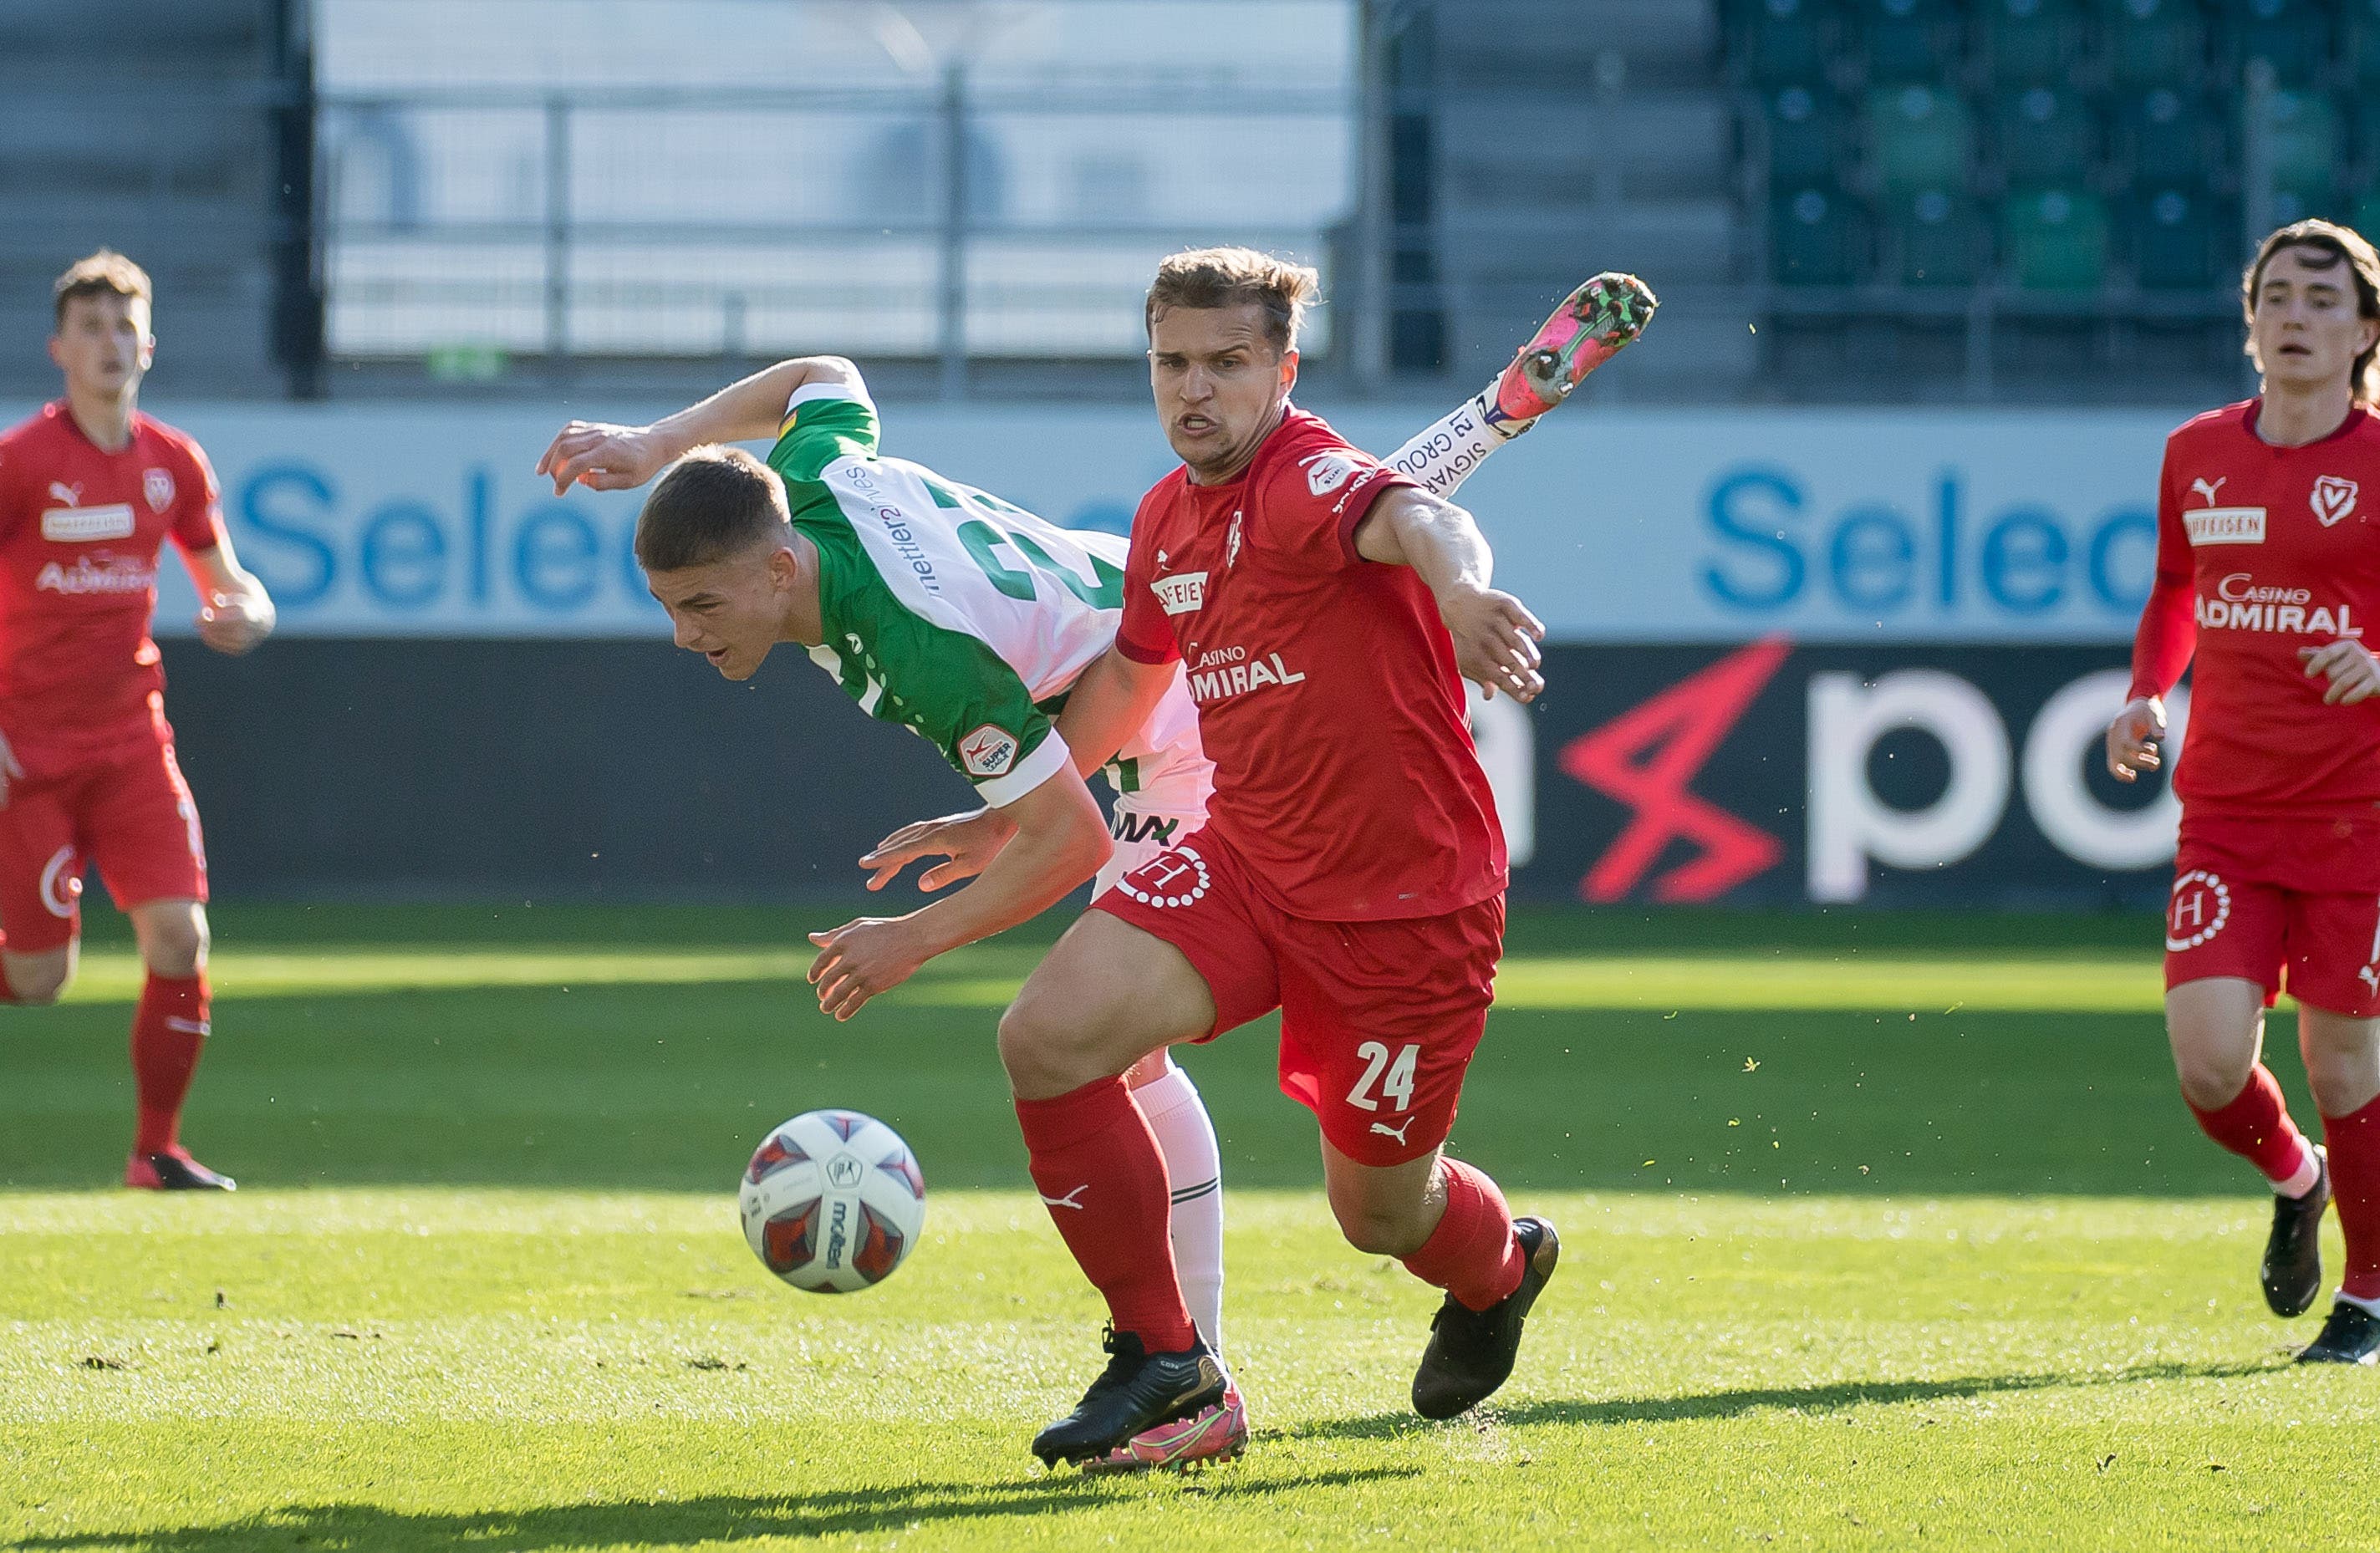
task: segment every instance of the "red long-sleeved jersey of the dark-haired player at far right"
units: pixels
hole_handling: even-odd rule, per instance
[[[2273,447],[2259,404],[2166,438],[2132,694],[2166,694],[2197,654],[2173,773],[2192,816],[2368,818],[2380,697],[2323,706],[2330,683],[2297,649],[2380,623],[2380,416],[2359,404],[2328,438]]]

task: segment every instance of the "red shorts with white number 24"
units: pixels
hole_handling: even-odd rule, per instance
[[[1188,956],[1216,1006],[1200,1039],[1280,1008],[1280,1092],[1347,1158],[1402,1165],[1447,1142],[1495,1001],[1502,894],[1445,916],[1316,923],[1266,901],[1200,830],[1092,908]]]

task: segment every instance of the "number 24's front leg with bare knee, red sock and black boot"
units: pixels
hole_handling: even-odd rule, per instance
[[[1178,949],[1100,911],[1066,930],[1000,1020],[1033,1184],[1114,1325],[1107,1372],[1035,1436],[1045,1463],[1102,1458],[1228,1387],[1183,1303],[1164,1156],[1121,1077],[1214,1020]]]

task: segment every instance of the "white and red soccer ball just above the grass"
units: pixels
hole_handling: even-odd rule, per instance
[[[735,1206],[769,1272],[812,1294],[850,1294],[909,1256],[926,1225],[926,1177],[873,1115],[804,1111],[752,1151]]]

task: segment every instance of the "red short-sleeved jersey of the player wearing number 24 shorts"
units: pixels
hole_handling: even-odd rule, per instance
[[[1226,485],[1140,499],[1116,647],[1183,659],[1216,766],[1207,828],[1290,916],[1445,916],[1504,889],[1464,680],[1411,566],[1354,530],[1404,476],[1290,409]]]

